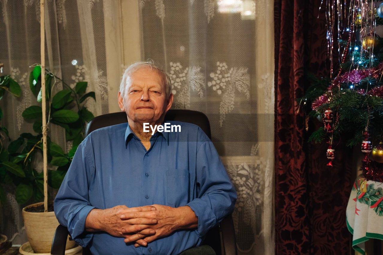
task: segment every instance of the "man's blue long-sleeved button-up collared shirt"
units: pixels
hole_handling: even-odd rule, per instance
[[[146,150],[128,123],[89,134],[77,148],[54,202],[67,226],[92,254],[178,254],[200,245],[206,232],[232,213],[236,191],[211,140],[200,127],[178,121],[181,132],[156,132]],[[147,247],[125,244],[106,232],[85,232],[93,208],[188,205],[198,228],[175,231]]]

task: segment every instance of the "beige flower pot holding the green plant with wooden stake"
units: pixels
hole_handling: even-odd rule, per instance
[[[23,218],[26,234],[29,244],[36,253],[51,252],[52,239],[59,222],[53,211],[46,213],[28,212],[25,209],[29,207],[38,207],[43,202],[34,203],[23,208]],[[65,249],[71,249],[76,245],[74,241],[67,239]]]

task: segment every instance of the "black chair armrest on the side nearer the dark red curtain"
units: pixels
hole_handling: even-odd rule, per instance
[[[236,234],[231,214],[226,216],[219,224],[222,232],[223,254],[237,255]]]

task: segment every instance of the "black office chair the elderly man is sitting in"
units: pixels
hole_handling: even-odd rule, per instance
[[[211,139],[210,123],[208,117],[199,111],[191,110],[169,110],[165,115],[165,121],[183,121],[199,126]],[[126,113],[108,113],[93,118],[87,125],[85,136],[93,130],[101,127],[121,124],[128,122]],[[59,225],[53,236],[51,255],[64,255],[65,244],[67,242],[68,229]],[[217,255],[237,255],[236,237],[234,224],[231,215],[226,216],[219,226],[210,229],[206,234],[203,244],[210,245]],[[89,249],[83,248],[83,255],[91,255]]]

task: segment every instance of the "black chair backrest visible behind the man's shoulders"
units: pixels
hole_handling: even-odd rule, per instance
[[[169,110],[165,115],[165,121],[172,120],[196,124],[211,139],[209,119],[200,111]],[[107,127],[126,122],[128,122],[128,119],[126,118],[126,113],[124,111],[97,116],[89,121],[87,128],[85,129],[85,136],[87,136],[93,130],[99,129],[101,127]]]

